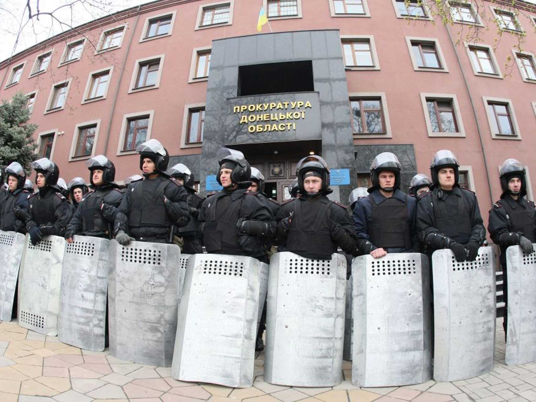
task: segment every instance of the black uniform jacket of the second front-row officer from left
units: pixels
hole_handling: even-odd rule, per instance
[[[65,229],[71,221],[72,210],[67,199],[55,187],[44,187],[28,197],[28,219],[26,229],[50,227],[49,232],[56,236],[63,236]]]

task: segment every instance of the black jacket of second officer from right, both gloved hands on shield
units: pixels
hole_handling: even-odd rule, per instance
[[[451,191],[434,188],[419,197],[417,227],[424,242],[431,233],[444,235],[460,244],[474,241],[482,245],[486,240],[486,229],[474,192],[460,187]],[[434,245],[429,245],[431,252]]]

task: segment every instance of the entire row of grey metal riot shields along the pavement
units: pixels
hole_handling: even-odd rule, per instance
[[[493,369],[495,258],[451,250],[308,259],[181,254],[175,244],[0,232],[0,319],[118,359],[171,366],[181,381],[248,387],[267,297],[264,379],[334,386],[456,381]],[[505,361],[536,361],[536,252],[507,251]],[[18,292],[16,292],[18,281]],[[430,285],[432,283],[433,285]],[[18,293],[18,294],[17,294]],[[17,297],[17,303],[15,298]]]

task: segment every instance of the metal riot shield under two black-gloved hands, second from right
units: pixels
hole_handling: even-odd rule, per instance
[[[434,273],[434,379],[457,381],[493,370],[495,259],[481,247],[473,262],[451,250],[432,255]]]

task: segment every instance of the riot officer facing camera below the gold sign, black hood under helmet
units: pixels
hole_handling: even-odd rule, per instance
[[[331,259],[337,247],[356,255],[356,236],[347,207],[331,201],[330,170],[317,155],[296,165],[301,196],[287,200],[277,214],[275,242],[304,258]]]

